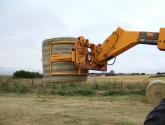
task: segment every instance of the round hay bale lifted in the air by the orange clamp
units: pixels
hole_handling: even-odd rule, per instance
[[[79,82],[85,81],[87,76],[77,75],[77,76],[51,76],[50,75],[50,44],[59,43],[59,42],[68,42],[66,44],[54,44],[52,46],[53,54],[71,54],[72,48],[75,45],[75,41],[77,39],[73,37],[61,37],[61,38],[53,38],[47,39],[43,41],[42,45],[42,62],[43,62],[43,74],[44,78],[43,81],[46,84],[49,83],[60,83],[60,82]],[[72,64],[72,62],[53,62],[52,63],[52,70],[53,72],[60,72],[60,71],[71,71],[73,73],[77,72],[77,69]]]

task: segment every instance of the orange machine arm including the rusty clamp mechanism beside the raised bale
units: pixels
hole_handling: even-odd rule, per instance
[[[160,32],[134,32],[119,27],[99,45],[81,36],[72,50],[72,62],[80,69],[107,70],[107,61],[137,44],[157,45],[165,50],[165,28]]]

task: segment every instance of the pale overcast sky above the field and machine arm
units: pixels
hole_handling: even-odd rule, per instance
[[[98,44],[118,26],[158,32],[165,27],[164,5],[164,0],[0,0],[0,70],[42,71],[47,38],[83,35]],[[165,52],[139,45],[108,70],[165,72]]]

